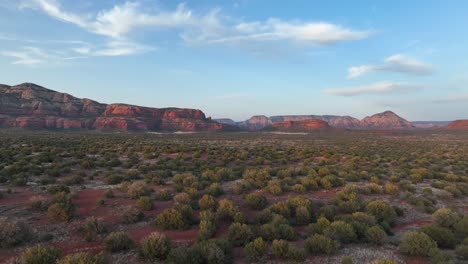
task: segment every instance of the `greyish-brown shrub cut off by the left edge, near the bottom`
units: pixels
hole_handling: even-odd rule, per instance
[[[13,247],[28,242],[32,237],[33,232],[26,223],[0,218],[0,248]]]

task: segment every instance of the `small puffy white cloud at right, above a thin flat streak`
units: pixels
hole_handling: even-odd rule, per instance
[[[399,72],[414,75],[431,74],[434,69],[432,65],[417,61],[402,54],[390,56],[383,64],[360,65],[348,69],[348,78],[354,79],[371,72]]]

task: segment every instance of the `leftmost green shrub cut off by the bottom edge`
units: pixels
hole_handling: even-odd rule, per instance
[[[51,264],[55,263],[62,256],[62,251],[54,247],[42,245],[26,249],[21,254],[20,261],[24,264]]]

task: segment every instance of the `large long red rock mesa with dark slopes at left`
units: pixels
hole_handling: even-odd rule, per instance
[[[0,85],[0,126],[29,129],[218,131],[232,127],[196,109],[101,104],[25,83]]]

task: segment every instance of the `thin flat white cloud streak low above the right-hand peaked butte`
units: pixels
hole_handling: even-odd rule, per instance
[[[324,92],[333,96],[350,97],[365,94],[406,93],[422,88],[423,86],[419,84],[384,81],[363,86],[325,89]]]

